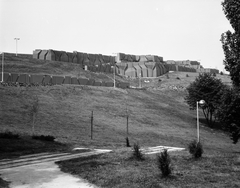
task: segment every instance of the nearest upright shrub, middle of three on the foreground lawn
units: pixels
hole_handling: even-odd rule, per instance
[[[162,177],[169,176],[172,172],[171,158],[166,149],[157,156],[157,162],[158,168],[162,172]]]

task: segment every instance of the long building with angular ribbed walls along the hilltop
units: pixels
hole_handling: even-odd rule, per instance
[[[168,71],[181,72],[210,72],[218,73],[216,69],[206,69],[198,61],[191,60],[167,60],[156,55],[131,55],[118,53],[116,57],[102,54],[88,54],[82,52],[65,52],[57,50],[40,50],[33,51],[33,58],[78,63],[83,69],[92,72],[113,73],[116,64],[116,74],[127,77],[158,77]]]

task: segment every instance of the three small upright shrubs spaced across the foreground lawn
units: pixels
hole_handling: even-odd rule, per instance
[[[202,157],[203,147],[200,142],[197,142],[196,140],[190,142],[188,145],[188,150],[193,158],[198,159]],[[138,144],[134,144],[133,146],[132,158],[140,161],[145,160],[144,154],[142,153],[142,150]],[[173,169],[171,165],[171,157],[167,149],[164,149],[160,154],[157,155],[157,165],[158,169],[162,173],[162,177],[168,177],[171,175]]]

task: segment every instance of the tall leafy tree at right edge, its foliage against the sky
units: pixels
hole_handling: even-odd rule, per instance
[[[233,84],[240,86],[240,1],[224,0],[222,6],[234,30],[234,32],[227,31],[221,36],[225,55],[224,65],[230,72]]]

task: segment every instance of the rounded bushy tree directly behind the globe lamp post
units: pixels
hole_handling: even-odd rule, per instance
[[[197,101],[204,100],[205,105],[202,106],[203,114],[208,125],[212,126],[216,119],[216,110],[221,103],[221,95],[226,86],[220,79],[217,79],[210,73],[199,74],[187,87],[186,102],[191,110],[196,109]]]

